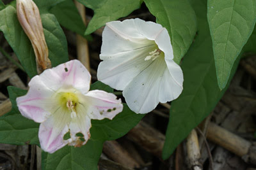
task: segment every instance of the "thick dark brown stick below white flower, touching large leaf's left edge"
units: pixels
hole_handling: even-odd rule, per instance
[[[150,125],[140,122],[128,132],[127,138],[161,159],[165,136]]]

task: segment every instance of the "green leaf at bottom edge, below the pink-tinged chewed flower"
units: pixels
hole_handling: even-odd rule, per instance
[[[81,148],[65,146],[55,153],[42,152],[42,169],[63,170],[63,169],[95,169],[102,152],[103,143],[90,139]]]

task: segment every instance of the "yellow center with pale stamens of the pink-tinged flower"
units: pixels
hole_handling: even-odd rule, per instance
[[[61,92],[59,97],[60,105],[71,112],[70,117],[76,117],[76,106],[78,104],[78,98],[76,94],[72,92]]]

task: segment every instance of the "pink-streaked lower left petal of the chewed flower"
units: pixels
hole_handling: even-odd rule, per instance
[[[70,113],[61,108],[51,115],[45,122],[40,124],[38,137],[42,150],[53,153],[67,145],[64,135],[68,132]]]

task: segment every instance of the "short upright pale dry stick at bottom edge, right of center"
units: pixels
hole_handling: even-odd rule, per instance
[[[193,170],[200,170],[202,169],[202,164],[200,163],[200,148],[198,144],[198,138],[195,129],[193,129],[188,138],[187,138],[187,152],[188,152],[188,159],[189,159],[189,167]]]

